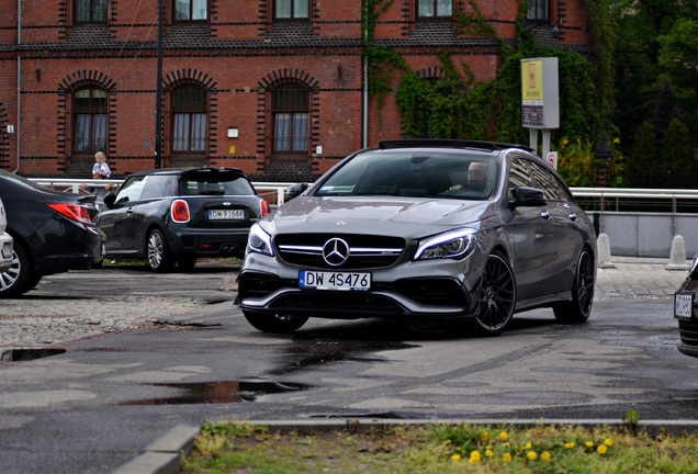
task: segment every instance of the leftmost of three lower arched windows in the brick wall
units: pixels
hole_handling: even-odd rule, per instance
[[[74,93],[75,153],[93,154],[106,148],[108,93],[85,87]]]

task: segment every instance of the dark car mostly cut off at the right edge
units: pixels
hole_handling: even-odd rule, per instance
[[[688,275],[674,294],[674,317],[678,320],[682,338],[679,352],[698,358],[698,255],[688,271]]]

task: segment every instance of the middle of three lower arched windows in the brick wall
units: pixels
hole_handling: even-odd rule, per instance
[[[205,153],[207,138],[206,91],[188,83],[172,91],[172,151]]]

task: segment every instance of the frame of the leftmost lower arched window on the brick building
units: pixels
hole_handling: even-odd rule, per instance
[[[78,103],[80,100],[79,94],[88,91],[88,104],[82,105]],[[103,93],[103,104],[95,104],[94,92]],[[71,110],[71,123],[72,123],[72,153],[75,155],[92,155],[97,151],[106,151],[108,133],[109,133],[109,92],[103,88],[95,84],[88,84],[76,89],[71,94],[72,110]],[[95,129],[95,117],[100,119],[98,133]],[[85,120],[89,123],[81,124]],[[81,135],[81,131],[87,128],[87,137]],[[86,147],[81,144],[87,143]]]

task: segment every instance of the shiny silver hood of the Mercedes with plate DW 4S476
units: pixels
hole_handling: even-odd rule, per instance
[[[271,234],[351,233],[403,237],[476,226],[492,201],[394,196],[299,196],[281,205],[263,227]]]

